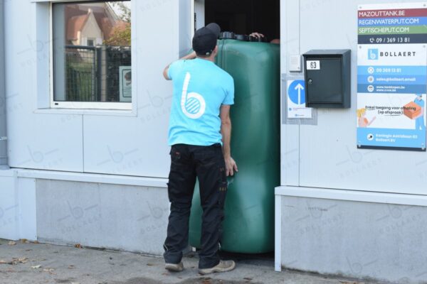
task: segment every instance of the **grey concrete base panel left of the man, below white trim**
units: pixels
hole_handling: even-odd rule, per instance
[[[38,240],[159,255],[166,188],[36,180]]]

